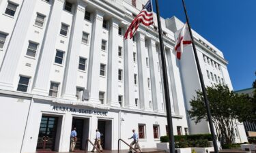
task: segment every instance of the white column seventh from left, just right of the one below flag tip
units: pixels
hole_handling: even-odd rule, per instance
[[[150,110],[149,90],[147,85],[147,64],[145,56],[145,35],[137,33],[139,99],[141,109]]]

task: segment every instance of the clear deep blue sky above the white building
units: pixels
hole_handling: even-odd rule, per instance
[[[156,12],[155,0],[154,12]],[[186,22],[182,0],[158,0],[160,16]],[[185,0],[190,26],[221,50],[234,90],[256,79],[256,0]]]

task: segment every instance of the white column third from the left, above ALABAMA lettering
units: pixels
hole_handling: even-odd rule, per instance
[[[83,35],[83,18],[85,16],[86,4],[77,1],[76,14],[73,18],[70,46],[66,61],[66,69],[63,80],[63,98],[76,100],[76,78],[79,67],[79,51]]]

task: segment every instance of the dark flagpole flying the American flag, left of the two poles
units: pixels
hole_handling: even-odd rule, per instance
[[[170,101],[170,94],[169,94],[169,84],[168,84],[168,77],[167,77],[167,67],[166,67],[166,60],[165,60],[165,52],[164,52],[164,44],[162,42],[162,27],[160,22],[160,13],[158,9],[158,0],[156,0],[156,15],[157,15],[157,22],[158,22],[158,33],[159,33],[159,43],[160,43],[160,55],[162,61],[162,75],[163,75],[163,84],[165,88],[165,105],[167,109],[167,124],[168,124],[168,131],[169,131],[169,150],[170,153],[175,153],[175,146],[174,146],[174,136],[173,136],[173,121],[171,116],[171,101]]]

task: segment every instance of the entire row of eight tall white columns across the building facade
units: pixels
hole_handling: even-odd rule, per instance
[[[16,21],[12,38],[8,50],[1,65],[0,83],[13,90],[14,77],[18,63],[20,60],[20,48],[25,44],[24,35],[29,31],[29,24],[31,23],[32,14],[34,12],[37,1],[25,0],[20,10],[20,15]],[[38,66],[35,71],[35,79],[33,82],[34,94],[48,95],[48,84],[51,73],[51,66],[53,63],[53,56],[55,56],[55,45],[59,33],[59,25],[61,24],[60,14],[63,10],[64,0],[55,0],[53,2],[51,14],[47,23],[46,34],[42,42],[40,50],[40,58]],[[81,39],[83,33],[83,20],[85,14],[86,4],[78,0],[76,12],[73,17],[72,31],[70,34],[70,42],[68,46],[66,67],[63,78],[63,88],[61,97],[66,99],[76,99],[76,79],[77,67],[79,65],[79,51],[81,48]],[[100,80],[100,50],[102,41],[102,22],[104,13],[96,10],[94,12],[93,27],[91,32],[91,48],[89,53],[87,90],[90,92],[90,101],[100,104],[99,101],[99,86]],[[119,21],[113,18],[111,20],[111,27],[109,30],[109,57],[108,57],[108,79],[107,79],[107,96],[106,103],[109,105],[119,106],[118,103],[118,61],[117,58],[118,44],[115,41],[119,39],[118,35]],[[150,80],[152,86],[152,104],[154,111],[160,111],[160,76],[158,75],[158,54],[156,52],[155,41],[149,39],[149,61],[150,61]],[[124,40],[124,101],[125,107],[135,108],[134,97],[134,63],[133,63],[133,42],[132,39]],[[138,53],[138,70],[139,70],[139,99],[141,109],[149,110],[149,89],[147,86],[147,65],[145,56],[145,35],[137,32],[137,53]],[[11,70],[11,71],[10,71]]]

